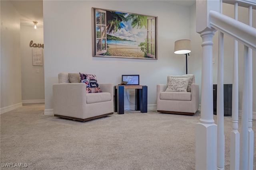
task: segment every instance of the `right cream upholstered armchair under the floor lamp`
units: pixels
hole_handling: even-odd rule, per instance
[[[188,80],[186,90],[176,91],[170,87],[175,84],[170,80]],[[185,83],[184,83],[185,84]],[[169,89],[168,89],[169,88]],[[172,88],[172,89],[171,89]],[[195,84],[194,74],[168,76],[167,84],[157,84],[157,111],[163,113],[178,113],[194,115],[199,108],[199,85]]]

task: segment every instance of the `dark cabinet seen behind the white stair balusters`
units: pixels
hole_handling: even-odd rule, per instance
[[[232,115],[232,84],[224,84],[224,116]],[[213,114],[217,110],[217,84],[213,84]]]

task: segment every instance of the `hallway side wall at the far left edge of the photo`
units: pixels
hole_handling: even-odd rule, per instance
[[[1,3],[1,113],[22,106],[20,14],[10,1]]]

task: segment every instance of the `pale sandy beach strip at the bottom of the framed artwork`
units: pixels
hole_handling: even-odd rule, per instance
[[[144,53],[137,45],[108,45],[108,51],[112,56],[120,57],[144,57]]]

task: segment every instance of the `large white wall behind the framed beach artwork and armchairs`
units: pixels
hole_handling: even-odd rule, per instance
[[[190,9],[165,1],[44,1],[45,112],[52,109],[52,84],[59,72],[96,74],[102,83],[140,74],[148,105],[156,106],[156,84],[186,73],[186,60],[174,54],[174,41],[190,38]],[[92,7],[158,16],[158,60],[92,57]],[[193,72],[190,72],[193,73]]]

